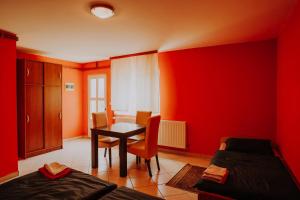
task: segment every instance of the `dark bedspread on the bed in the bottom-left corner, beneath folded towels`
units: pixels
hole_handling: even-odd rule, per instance
[[[115,184],[75,170],[57,180],[33,172],[0,185],[0,199],[98,199],[116,187]]]

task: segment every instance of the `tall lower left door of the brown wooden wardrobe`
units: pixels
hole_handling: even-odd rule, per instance
[[[43,87],[25,86],[26,153],[44,148]]]

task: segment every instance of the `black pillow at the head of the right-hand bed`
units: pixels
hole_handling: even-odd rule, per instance
[[[225,151],[236,151],[259,155],[274,155],[270,140],[228,138]]]

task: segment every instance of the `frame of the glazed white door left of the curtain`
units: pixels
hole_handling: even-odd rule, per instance
[[[105,87],[104,87],[104,102],[105,102],[105,110],[107,111],[107,75],[106,73],[99,73],[99,74],[92,74],[92,75],[88,75],[87,76],[87,81],[88,81],[88,84],[87,84],[87,90],[88,90],[88,96],[87,96],[87,103],[88,103],[88,113],[87,113],[87,122],[88,122],[88,125],[87,125],[87,133],[88,133],[88,136],[91,137],[91,132],[90,132],[90,80],[92,78],[104,78],[104,84],[105,84]],[[96,98],[98,97],[98,89],[96,90]],[[97,100],[96,100],[96,109],[97,109]]]

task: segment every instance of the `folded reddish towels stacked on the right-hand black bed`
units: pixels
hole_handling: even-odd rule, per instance
[[[210,165],[202,175],[202,179],[214,181],[224,184],[228,177],[228,170],[226,168]]]

